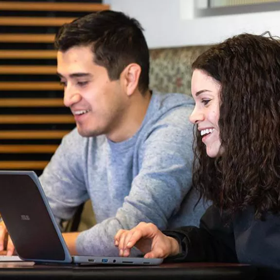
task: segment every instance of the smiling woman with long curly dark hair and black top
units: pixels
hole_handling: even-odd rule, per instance
[[[280,43],[238,35],[192,65],[193,186],[213,205],[200,227],[140,223],[115,237],[121,256],[280,268]]]

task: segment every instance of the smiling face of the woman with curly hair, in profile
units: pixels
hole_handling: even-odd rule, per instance
[[[197,124],[209,157],[218,157],[222,154],[218,126],[220,89],[220,83],[205,71],[197,69],[193,71],[192,97],[195,101],[195,107],[190,116],[190,121]]]

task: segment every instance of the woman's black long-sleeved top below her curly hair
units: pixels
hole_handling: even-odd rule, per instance
[[[248,263],[260,267],[266,279],[280,279],[278,215],[267,215],[262,221],[255,219],[250,208],[236,214],[230,222],[211,206],[201,218],[199,228],[180,227],[164,233],[175,237],[182,248],[180,255],[169,260]]]

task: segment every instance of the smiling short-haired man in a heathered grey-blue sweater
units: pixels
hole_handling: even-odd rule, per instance
[[[90,14],[64,25],[55,46],[64,104],[77,127],[40,181],[58,222],[90,198],[98,223],[64,233],[70,252],[118,255],[114,235],[140,221],[160,229],[197,225],[205,208],[193,210],[192,100],[149,90],[140,23],[120,12]]]

